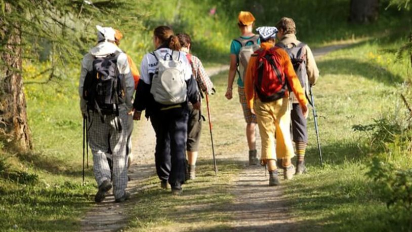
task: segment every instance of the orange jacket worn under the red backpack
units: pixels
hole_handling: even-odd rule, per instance
[[[271,43],[262,43],[261,48],[269,50],[273,47],[274,44]],[[297,96],[298,101],[301,105],[308,104],[306,99],[305,92],[302,89],[301,83],[299,82],[298,76],[293,69],[291,58],[283,49],[275,49],[275,54],[279,57],[280,66],[283,67],[283,72],[287,78],[287,82],[292,88],[292,91]],[[246,69],[246,76],[244,78],[244,92],[246,95],[246,101],[248,102],[248,107],[253,108],[253,102],[256,96],[255,93],[255,72],[257,68],[257,56],[251,56],[249,60],[248,68]],[[288,97],[289,93],[286,91],[286,96]]]

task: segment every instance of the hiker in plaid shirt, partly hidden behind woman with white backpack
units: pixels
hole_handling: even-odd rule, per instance
[[[192,67],[193,76],[197,82],[197,86],[206,94],[213,93],[213,83],[209,78],[208,73],[203,68],[202,62],[196,56],[190,54],[191,39],[188,34],[178,34],[181,49],[185,52],[187,59]],[[202,126],[202,115],[200,109],[193,108],[189,102],[189,121],[187,124],[187,173],[186,179],[193,180],[196,178],[196,160],[198,155],[198,147],[200,141],[200,131]]]

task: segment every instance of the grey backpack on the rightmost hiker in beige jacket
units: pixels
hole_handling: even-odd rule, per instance
[[[296,75],[299,78],[299,82],[303,89],[306,89],[307,85],[307,72],[306,72],[306,44],[300,43],[299,45],[293,44],[292,48],[287,48],[282,43],[276,44],[277,47],[284,49],[291,58],[293,68]]]

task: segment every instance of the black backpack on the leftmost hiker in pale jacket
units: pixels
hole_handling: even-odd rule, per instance
[[[119,115],[119,104],[125,103],[126,78],[117,68],[116,51],[93,60],[93,70],[86,75],[83,98],[88,110],[96,110],[104,123],[104,115]]]

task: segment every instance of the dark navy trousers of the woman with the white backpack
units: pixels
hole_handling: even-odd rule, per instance
[[[186,140],[189,112],[175,108],[152,113],[150,121],[156,133],[154,153],[157,176],[180,188],[186,175]]]

